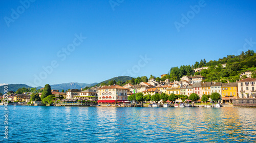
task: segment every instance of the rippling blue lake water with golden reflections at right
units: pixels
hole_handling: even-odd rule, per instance
[[[256,108],[0,106],[0,142],[256,142]]]

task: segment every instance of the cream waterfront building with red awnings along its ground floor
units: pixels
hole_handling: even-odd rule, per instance
[[[98,103],[121,103],[127,101],[130,89],[119,85],[105,86],[98,89]]]

